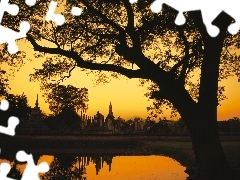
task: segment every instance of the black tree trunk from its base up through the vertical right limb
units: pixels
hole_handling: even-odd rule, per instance
[[[200,89],[195,110],[189,112],[188,127],[198,166],[199,179],[233,179],[220,140],[217,124],[217,93],[219,64],[227,27],[232,19],[221,13],[213,24],[220,33],[211,38],[204,30],[202,21],[195,19],[201,30],[204,43],[204,58],[201,66]]]

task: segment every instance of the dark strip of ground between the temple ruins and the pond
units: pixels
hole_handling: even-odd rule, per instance
[[[229,165],[240,179],[240,136],[221,136],[220,140]],[[188,174],[194,174],[194,154],[188,136],[1,136],[0,147],[3,156],[18,150],[45,155],[165,155],[186,166]]]

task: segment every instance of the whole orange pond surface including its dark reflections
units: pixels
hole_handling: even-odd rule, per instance
[[[93,179],[164,179],[183,180],[188,177],[185,167],[165,156],[116,156],[116,155],[34,155],[36,163],[47,161],[50,170],[40,175],[42,180],[93,180]],[[1,162],[6,162],[0,159]],[[9,177],[20,179],[24,164],[15,159]]]

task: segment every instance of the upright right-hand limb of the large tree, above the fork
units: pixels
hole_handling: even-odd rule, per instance
[[[191,13],[191,14],[197,14]],[[199,15],[199,13],[197,14]],[[192,15],[193,16],[193,15]],[[204,26],[202,19],[196,19],[193,16],[194,23],[199,28]],[[224,39],[226,38],[227,28],[231,24],[232,18],[225,12],[219,14],[219,16],[212,22],[213,25],[218,26],[220,33],[217,37],[212,38],[205,34],[204,30],[201,30],[201,36],[204,43],[204,57],[201,64],[201,77],[199,88],[198,103],[208,110],[214,110],[217,112],[217,92],[218,92],[218,78],[219,78],[219,64],[222,53],[222,47]],[[206,112],[207,113],[207,112]]]

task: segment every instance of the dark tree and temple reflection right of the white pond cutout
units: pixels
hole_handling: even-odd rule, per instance
[[[92,162],[95,164],[96,174],[103,167],[104,162],[109,166],[111,171],[112,156],[72,156],[72,155],[56,155],[50,165],[50,170],[41,176],[41,179],[51,180],[84,180],[86,174],[86,166]]]

